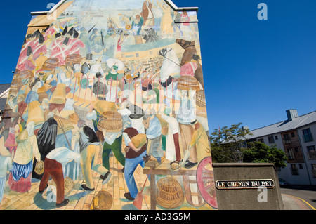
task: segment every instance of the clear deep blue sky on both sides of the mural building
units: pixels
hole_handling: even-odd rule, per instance
[[[268,20],[258,20],[259,3]],[[6,1],[1,11],[0,83],[11,83],[31,19],[58,0]],[[242,122],[249,129],[316,110],[315,0],[173,0],[199,7],[199,35],[209,129]]]

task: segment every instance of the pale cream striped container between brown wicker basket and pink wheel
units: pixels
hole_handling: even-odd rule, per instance
[[[204,206],[206,203],[199,192],[196,176],[183,175],[183,187],[185,189],[185,199],[192,206]]]

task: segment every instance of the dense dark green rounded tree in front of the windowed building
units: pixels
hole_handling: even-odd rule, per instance
[[[287,166],[285,152],[276,145],[265,145],[261,142],[249,143],[248,148],[243,150],[243,162],[272,163],[275,167],[284,168]]]

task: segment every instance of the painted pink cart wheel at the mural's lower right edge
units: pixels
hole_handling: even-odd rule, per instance
[[[205,157],[197,166],[197,186],[205,202],[213,208],[218,208],[213,174],[212,158]]]

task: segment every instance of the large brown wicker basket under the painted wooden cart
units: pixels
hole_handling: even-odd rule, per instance
[[[184,194],[180,183],[169,177],[157,182],[157,204],[166,209],[174,209],[183,204]]]

